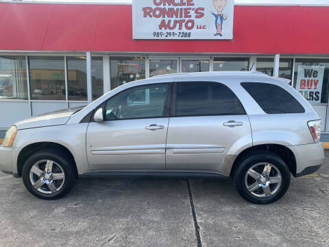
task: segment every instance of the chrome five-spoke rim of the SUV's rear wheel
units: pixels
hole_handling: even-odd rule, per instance
[[[266,198],[278,191],[282,183],[279,169],[271,163],[258,163],[245,174],[245,187],[252,195]]]

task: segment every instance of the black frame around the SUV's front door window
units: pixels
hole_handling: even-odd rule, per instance
[[[160,116],[160,117],[132,117],[132,118],[126,118],[126,119],[111,119],[111,120],[106,120],[106,111],[105,111],[105,108],[106,108],[106,104],[108,103],[108,101],[110,101],[110,99],[112,99],[113,97],[119,95],[119,93],[124,93],[125,91],[127,90],[131,90],[131,89],[135,89],[135,88],[138,88],[138,87],[142,87],[142,86],[153,86],[153,85],[168,85],[168,93],[164,99],[164,112],[166,114]],[[124,121],[124,120],[134,120],[134,119],[155,119],[155,118],[166,118],[166,117],[170,117],[170,106],[171,106],[171,98],[172,98],[172,95],[173,95],[173,82],[157,82],[157,83],[149,83],[149,84],[142,84],[142,85],[137,85],[137,86],[131,86],[127,89],[124,89],[118,93],[116,93],[115,95],[112,95],[110,98],[106,99],[103,103],[99,104],[99,106],[97,106],[94,110],[90,111],[90,113],[88,113],[88,115],[86,115],[86,117],[84,117],[84,119],[82,119],[81,122],[88,122],[88,119],[89,119],[89,115],[90,116],[90,122],[95,122],[94,121],[94,115],[96,113],[96,111],[99,109],[99,108],[102,108],[103,109],[103,121]]]

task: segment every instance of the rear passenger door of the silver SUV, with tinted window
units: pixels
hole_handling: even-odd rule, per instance
[[[217,171],[232,145],[249,138],[249,119],[239,99],[219,82],[175,82],[166,146],[166,168]]]

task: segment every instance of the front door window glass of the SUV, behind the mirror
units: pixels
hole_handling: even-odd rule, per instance
[[[127,89],[106,103],[106,120],[169,117],[166,99],[169,84],[151,84]]]

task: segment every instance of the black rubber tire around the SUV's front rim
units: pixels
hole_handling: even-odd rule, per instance
[[[34,188],[34,185],[32,185],[32,181],[30,180],[30,171],[33,165],[38,163],[38,161],[43,160],[50,160],[54,163],[57,163],[60,165],[60,167],[62,167],[62,170],[64,171],[64,183],[62,183],[62,186],[58,188],[59,190],[54,193],[42,193],[38,191],[38,189]],[[58,167],[58,165],[56,165],[56,167]],[[40,150],[27,158],[23,166],[22,178],[25,187],[34,196],[45,200],[56,200],[65,196],[75,186],[75,183],[77,182],[77,170],[71,156],[60,149],[47,148]],[[62,180],[59,180],[59,183],[61,183],[61,181]]]

